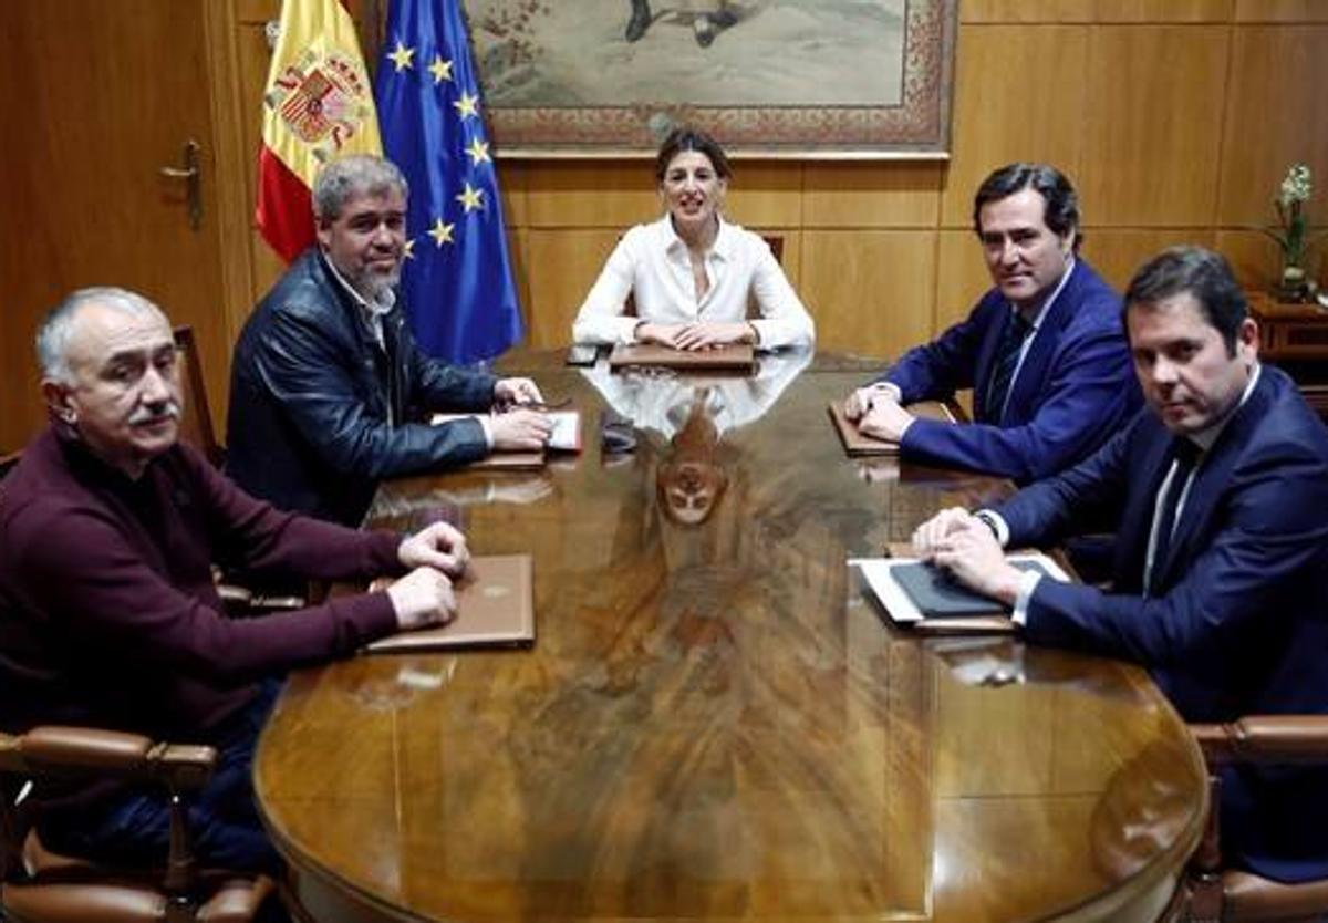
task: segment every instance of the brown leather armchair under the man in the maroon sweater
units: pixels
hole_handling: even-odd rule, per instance
[[[211,777],[210,746],[157,744],[88,728],[0,734],[0,918],[7,923],[246,923],[272,898],[263,875],[199,871],[190,851],[185,796]],[[149,781],[171,797],[165,869],[125,870],[46,850],[25,786],[44,777]]]

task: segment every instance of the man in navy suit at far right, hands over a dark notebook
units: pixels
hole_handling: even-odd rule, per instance
[[[1145,664],[1186,720],[1328,712],[1328,429],[1259,365],[1216,254],[1165,251],[1125,303],[1149,412],[993,510],[946,510],[914,543],[1011,604],[1029,641]],[[1016,571],[1000,550],[1101,523],[1118,531],[1112,592]],[[1328,877],[1325,793],[1320,768],[1226,770],[1228,862]]]

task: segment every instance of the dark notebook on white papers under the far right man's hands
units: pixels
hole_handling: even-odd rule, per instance
[[[1054,560],[1038,551],[1011,554],[1005,560],[1019,570],[1069,580]],[[915,558],[869,558],[855,563],[895,624],[942,633],[1015,629],[1008,606],[968,590],[932,564]]]

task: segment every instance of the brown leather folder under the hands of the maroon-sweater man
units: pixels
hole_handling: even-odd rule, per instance
[[[457,618],[437,628],[404,631],[369,644],[369,653],[429,653],[457,648],[530,647],[535,604],[529,554],[478,556],[457,587]]]

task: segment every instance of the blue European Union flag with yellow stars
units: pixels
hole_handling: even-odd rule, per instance
[[[410,325],[430,356],[491,359],[521,339],[521,308],[461,0],[392,0],[382,52],[382,150],[410,183]]]

